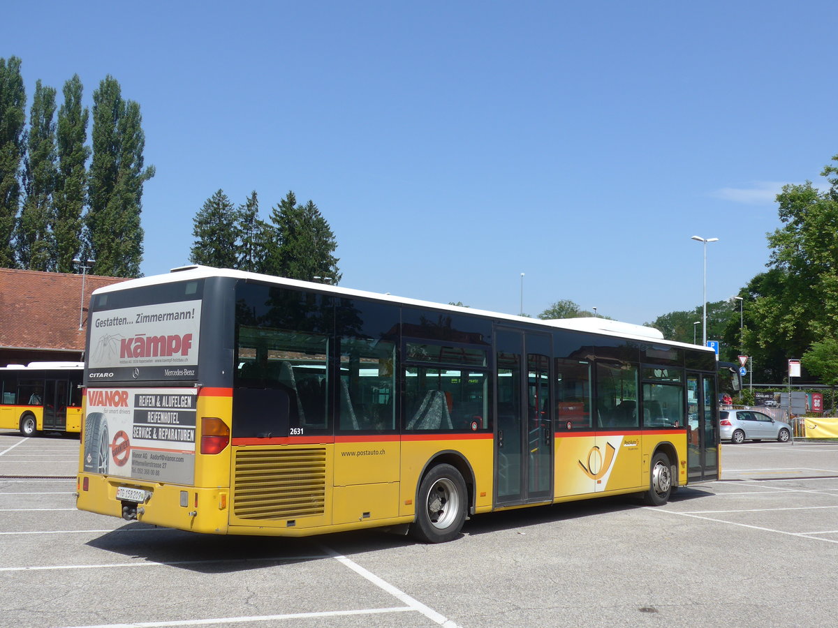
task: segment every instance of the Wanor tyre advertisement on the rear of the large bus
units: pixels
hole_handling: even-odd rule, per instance
[[[191,484],[196,389],[88,389],[84,470]]]

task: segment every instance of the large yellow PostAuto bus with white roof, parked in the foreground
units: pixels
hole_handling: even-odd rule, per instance
[[[193,266],[94,292],[86,356],[77,505],[168,528],[437,543],[719,473],[714,353],[605,319]]]

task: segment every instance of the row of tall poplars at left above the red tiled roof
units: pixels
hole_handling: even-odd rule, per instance
[[[60,107],[56,95],[38,80],[27,124],[21,60],[0,58],[0,266],[66,273],[73,260],[94,260],[96,275],[137,277],[142,188],[154,176],[140,106],[111,75],[92,111],[79,75]]]

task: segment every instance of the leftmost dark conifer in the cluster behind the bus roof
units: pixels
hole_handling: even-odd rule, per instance
[[[216,268],[236,268],[237,220],[233,203],[223,190],[207,198],[193,219],[195,241],[189,260]]]

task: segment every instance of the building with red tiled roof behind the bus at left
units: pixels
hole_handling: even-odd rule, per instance
[[[120,281],[0,268],[0,366],[84,360],[91,292]]]

